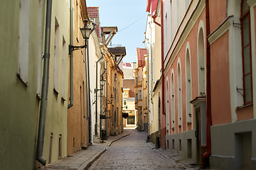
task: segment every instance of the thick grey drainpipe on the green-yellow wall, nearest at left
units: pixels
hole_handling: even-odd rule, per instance
[[[46,159],[43,157],[43,140],[46,127],[46,106],[48,96],[48,78],[49,78],[49,61],[50,61],[50,18],[52,11],[52,0],[48,0],[46,4],[46,37],[45,37],[45,52],[43,55],[43,82],[42,82],[42,97],[40,103],[40,118],[38,125],[38,141],[36,148],[36,160],[46,166]]]

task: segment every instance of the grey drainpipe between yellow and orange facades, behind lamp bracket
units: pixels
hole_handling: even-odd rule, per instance
[[[73,45],[73,19],[74,19],[73,0],[70,0],[70,45]],[[73,51],[70,52],[70,103],[68,108],[73,106]]]

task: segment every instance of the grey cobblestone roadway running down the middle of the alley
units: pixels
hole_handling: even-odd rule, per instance
[[[129,136],[114,142],[89,169],[186,169],[146,144],[146,132],[128,131]]]

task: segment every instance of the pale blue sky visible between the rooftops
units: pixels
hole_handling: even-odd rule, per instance
[[[86,0],[86,5],[99,6],[100,26],[117,26],[112,45],[126,48],[123,62],[136,62],[137,47],[145,48],[146,0]]]

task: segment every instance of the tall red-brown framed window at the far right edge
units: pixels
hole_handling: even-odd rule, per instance
[[[241,2],[242,81],[244,104],[252,103],[252,50],[250,42],[250,11],[247,1]]]

